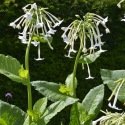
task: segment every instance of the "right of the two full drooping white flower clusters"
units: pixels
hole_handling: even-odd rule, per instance
[[[69,47],[68,55],[66,57],[72,58],[71,53],[76,53],[74,44],[77,39],[80,39],[80,48],[82,48],[82,53],[84,55],[94,54],[95,52],[105,52],[106,50],[102,49],[104,42],[101,41],[99,25],[101,24],[105,28],[106,33],[110,33],[109,29],[106,26],[108,17],[102,18],[101,16],[94,13],[87,13],[81,19],[79,15],[76,15],[78,19],[73,21],[68,27],[62,27],[64,33],[62,34],[63,41],[66,43],[66,48]],[[89,42],[90,41],[90,42]],[[86,62],[87,63],[87,62]],[[89,65],[87,79],[92,79],[90,74]]]

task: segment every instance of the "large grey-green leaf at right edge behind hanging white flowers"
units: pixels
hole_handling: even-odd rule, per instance
[[[119,80],[120,78],[125,78],[125,70],[101,70],[101,78],[104,84],[107,84],[109,89],[113,91],[117,85],[115,81]],[[122,85],[120,88],[118,99],[121,102],[125,102],[125,84]]]

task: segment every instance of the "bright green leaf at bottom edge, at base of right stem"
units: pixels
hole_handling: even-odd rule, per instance
[[[91,115],[85,111],[83,105],[79,102],[73,104],[70,112],[69,125],[88,125],[91,122]]]

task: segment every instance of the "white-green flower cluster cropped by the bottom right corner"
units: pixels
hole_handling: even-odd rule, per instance
[[[92,122],[92,125],[124,125],[125,113],[104,112],[105,116]],[[99,124],[98,124],[99,123]]]

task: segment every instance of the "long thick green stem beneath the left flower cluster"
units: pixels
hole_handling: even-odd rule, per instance
[[[27,94],[28,94],[28,111],[32,111],[32,91],[30,85],[30,74],[29,74],[29,51],[30,51],[31,39],[29,40],[25,53],[25,68],[28,70],[27,80]],[[29,125],[32,122],[32,117],[29,115]]]

